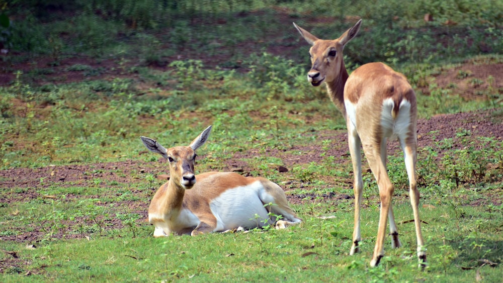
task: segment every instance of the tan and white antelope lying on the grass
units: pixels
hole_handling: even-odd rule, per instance
[[[159,153],[170,164],[170,180],[155,193],[148,208],[148,221],[155,226],[153,236],[171,233],[194,236],[238,227],[264,227],[278,220],[275,215],[284,219],[277,221],[276,228],[300,223],[282,188],[270,180],[233,172],[194,175],[195,151],[206,142],[210,132],[211,126],[189,146],[169,149],[141,137],[150,151]]]

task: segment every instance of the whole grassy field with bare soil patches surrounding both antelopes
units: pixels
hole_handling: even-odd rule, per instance
[[[0,281],[500,281],[503,4],[402,2],[0,3]],[[307,82],[308,46],[291,23],[330,38],[357,17],[348,70],[384,61],[416,90],[426,270],[396,143],[403,247],[386,239],[369,267],[379,201],[364,168],[364,239],[348,255],[345,122]],[[274,180],[302,224],[151,236],[146,211],[167,165],[139,136],[187,145],[208,125],[196,170]]]

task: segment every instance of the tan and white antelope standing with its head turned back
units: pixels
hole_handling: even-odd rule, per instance
[[[349,149],[355,174],[353,187],[355,228],[350,254],[353,255],[359,251],[358,244],[362,240],[360,234],[360,204],[363,191],[361,146],[377,180],[381,199],[379,228],[370,265],[379,264],[384,255],[383,243],[387,219],[389,219],[392,247],[401,245],[391,205],[393,184],[386,171],[386,141],[388,138],[398,138],[409,179],[410,203],[417,238],[417,256],[420,264],[424,266],[426,252],[423,249],[421,220],[418,212],[419,191],[415,178],[417,106],[414,90],[404,75],[395,72],[383,63],[365,64],[348,76],[343,61],[343,49],[346,43],[356,36],[361,23],[362,20],[358,21],[341,37],[334,40],[319,39],[293,23],[302,37],[312,45],[309,49],[312,66],[307,73],[308,81],[313,86],[325,82],[331,101],[346,119]]]

